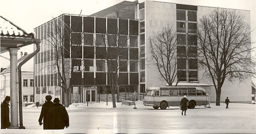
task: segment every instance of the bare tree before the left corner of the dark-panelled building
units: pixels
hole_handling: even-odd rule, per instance
[[[47,51],[49,55],[47,60],[51,61],[47,67],[51,73],[57,74],[57,85],[64,90],[65,106],[68,107],[71,104],[71,77],[74,73],[74,67],[79,63],[81,64],[81,60],[79,62],[76,59],[82,56],[82,34],[71,33],[72,29],[66,25],[63,16],[51,21],[50,25],[50,32],[47,33],[48,38],[45,38],[50,47],[50,50]]]

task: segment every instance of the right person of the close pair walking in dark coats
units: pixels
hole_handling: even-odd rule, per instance
[[[49,108],[50,129],[64,129],[69,127],[69,117],[65,106],[60,104],[59,98],[53,100],[53,107]]]

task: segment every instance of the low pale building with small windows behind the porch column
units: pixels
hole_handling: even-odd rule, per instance
[[[21,63],[26,57],[24,56],[18,60],[18,64]],[[21,67],[21,86],[22,86],[22,99],[26,102],[34,102],[34,71],[33,60],[29,60]],[[18,73],[18,72],[17,72]],[[18,81],[18,80],[17,80]],[[17,89],[18,90],[18,89]],[[10,66],[1,72],[1,100],[4,100],[5,96],[10,96]]]

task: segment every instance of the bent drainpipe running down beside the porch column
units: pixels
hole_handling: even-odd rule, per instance
[[[29,54],[28,57],[26,57],[21,63],[18,65],[18,84],[19,84],[19,129],[25,129],[23,126],[23,119],[22,119],[22,87],[21,87],[21,66],[25,64],[28,60],[30,60],[34,55],[36,55],[40,51],[40,39],[37,41],[31,41],[29,44],[35,44],[37,45],[37,50],[35,50],[33,53]]]

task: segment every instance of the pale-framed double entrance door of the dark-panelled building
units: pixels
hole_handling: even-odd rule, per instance
[[[97,88],[84,88],[83,89],[83,103],[97,101]]]

